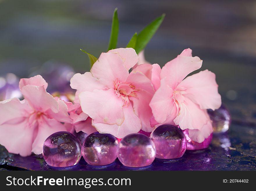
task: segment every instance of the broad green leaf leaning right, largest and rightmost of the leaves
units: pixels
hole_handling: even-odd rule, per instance
[[[156,33],[157,29],[163,22],[164,17],[165,14],[157,17],[154,21],[152,21],[145,28],[143,28],[140,33],[138,33],[135,47],[135,51],[137,54],[146,47],[147,43],[150,41],[150,39],[153,37],[153,35]]]

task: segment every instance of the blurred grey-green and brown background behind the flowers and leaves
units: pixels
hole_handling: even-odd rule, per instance
[[[106,51],[115,7],[118,47],[125,47],[134,32],[166,13],[145,49],[146,60],[163,66],[191,48],[203,60],[200,70],[216,73],[233,122],[256,125],[253,0],[0,0],[0,88],[11,89],[21,77],[41,74],[48,82],[56,81],[48,91],[68,89],[74,72],[89,71],[87,55],[79,49],[96,57]]]

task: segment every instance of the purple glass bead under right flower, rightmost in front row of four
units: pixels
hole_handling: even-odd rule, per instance
[[[160,125],[152,131],[150,138],[156,145],[156,158],[179,158],[186,151],[185,135],[181,129],[173,125]]]

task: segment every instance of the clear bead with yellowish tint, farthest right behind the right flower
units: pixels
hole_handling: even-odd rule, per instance
[[[207,110],[211,121],[214,133],[224,133],[228,130],[231,117],[227,108],[223,105],[219,109],[216,110]]]

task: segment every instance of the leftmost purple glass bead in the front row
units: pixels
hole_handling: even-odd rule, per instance
[[[53,133],[44,142],[43,157],[53,167],[76,165],[81,158],[81,143],[67,131]]]

